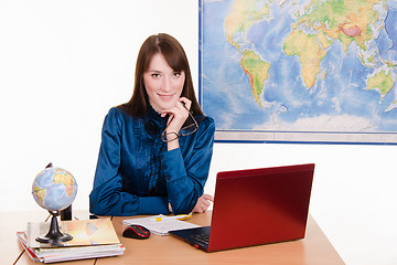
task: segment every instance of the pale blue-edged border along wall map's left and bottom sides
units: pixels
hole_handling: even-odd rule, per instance
[[[204,0],[198,0],[198,103],[205,112],[203,89],[203,32]],[[216,120],[215,120],[216,121]],[[216,123],[215,123],[216,128]],[[215,129],[215,142],[242,142],[242,144],[331,144],[331,145],[397,145],[397,131],[286,131],[286,130],[258,130],[258,129]]]

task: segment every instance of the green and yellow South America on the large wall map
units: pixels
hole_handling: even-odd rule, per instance
[[[249,77],[255,100],[261,106],[259,95],[262,93],[265,81],[269,74],[270,64],[262,61],[254,51],[245,50],[242,57],[242,67]]]

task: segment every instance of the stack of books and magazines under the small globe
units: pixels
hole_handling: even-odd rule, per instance
[[[126,248],[121,245],[110,219],[75,220],[60,222],[62,233],[73,236],[60,244],[37,242],[37,236],[49,232],[50,222],[28,223],[28,230],[17,232],[20,244],[33,262],[54,263],[84,258],[117,256]]]

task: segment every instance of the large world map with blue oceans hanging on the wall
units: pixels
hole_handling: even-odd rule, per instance
[[[200,33],[218,137],[397,132],[397,0],[204,0]]]

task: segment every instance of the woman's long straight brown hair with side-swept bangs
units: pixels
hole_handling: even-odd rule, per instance
[[[181,96],[192,100],[191,112],[194,115],[203,115],[194,94],[187,56],[181,43],[165,33],[151,35],[143,42],[138,53],[132,97],[119,107],[132,116],[144,116],[147,114],[149,98],[143,83],[143,74],[148,71],[150,61],[157,53],[161,53],[164,56],[173,71],[185,73],[185,82]]]

